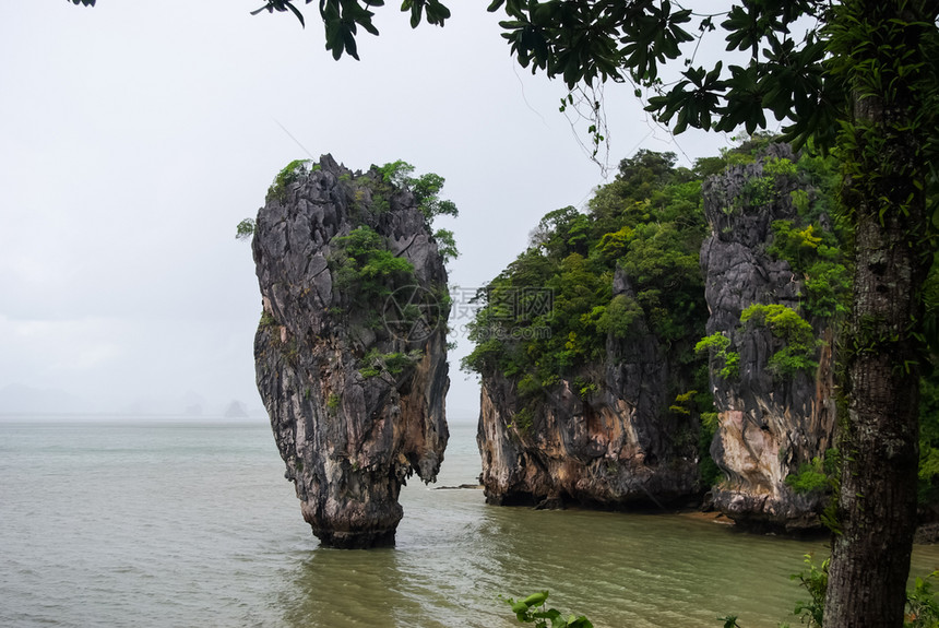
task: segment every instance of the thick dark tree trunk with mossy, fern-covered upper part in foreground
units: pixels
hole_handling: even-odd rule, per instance
[[[890,20],[932,24],[935,9],[927,9],[929,4],[848,0],[837,19],[851,14],[858,22],[845,21],[834,29],[835,37],[851,43],[844,78],[853,94],[854,119],[841,137],[841,156],[842,201],[853,216],[856,268],[842,351],[843,464],[825,628],[903,626],[916,525],[919,372],[925,356],[917,334],[920,289],[932,245],[923,191],[926,140],[916,128],[925,105],[923,76],[898,69],[903,51],[913,54],[904,64],[924,59],[923,28]]]

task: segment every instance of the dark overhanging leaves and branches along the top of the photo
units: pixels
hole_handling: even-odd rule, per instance
[[[254,13],[289,11],[302,23],[295,2],[269,0]],[[606,81],[630,82],[638,95],[643,90],[652,94],[647,110],[662,122],[674,120],[676,133],[688,127],[733,131],[740,126],[752,133],[768,126],[770,111],[788,123],[785,139],[800,145],[811,137],[817,146],[831,146],[852,104],[852,81],[864,71],[852,62],[855,38],[845,36],[853,28],[849,5],[856,3],[739,0],[729,9],[708,11],[669,0],[492,0],[489,11],[506,15],[499,23],[502,37],[522,67],[560,78],[571,91]],[[383,4],[383,0],[321,0],[325,47],[335,59],[343,54],[358,59],[358,28],[378,35],[372,9]],[[929,0],[903,4],[910,17],[894,27],[907,29],[911,38],[922,37],[935,59],[939,9]],[[421,19],[442,26],[450,17],[438,0],[404,0],[401,10],[411,14],[415,27]],[[876,45],[881,39],[876,31],[890,27],[889,20],[861,37]],[[698,62],[699,46],[714,32],[723,35],[737,63]],[[665,82],[664,70],[679,59],[684,59],[679,78]],[[905,62],[896,58],[891,67],[901,71]],[[935,73],[934,69],[924,74]],[[939,102],[935,82],[923,81],[918,88],[928,91],[934,104]],[[937,116],[924,112],[920,122],[935,138]]]

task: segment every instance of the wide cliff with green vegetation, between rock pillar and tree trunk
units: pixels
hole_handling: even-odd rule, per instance
[[[720,470],[713,503],[744,526],[817,528],[849,284],[828,166],[776,145],[698,183],[670,159],[639,154],[589,213],[547,214],[483,295],[464,364],[487,499],[662,503]],[[552,291],[550,315],[531,291]]]

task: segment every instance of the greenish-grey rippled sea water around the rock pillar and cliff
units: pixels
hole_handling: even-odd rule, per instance
[[[474,484],[451,423],[437,486]],[[393,548],[318,546],[262,422],[0,422],[0,626],[509,627],[549,590],[597,627],[775,627],[823,542],[687,514],[486,506],[412,478]],[[914,573],[939,568],[917,547]]]

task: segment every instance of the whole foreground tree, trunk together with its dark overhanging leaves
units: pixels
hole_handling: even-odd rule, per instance
[[[290,11],[302,22],[298,1],[269,0],[258,12]],[[371,9],[382,4],[320,0],[336,59],[357,58],[359,26],[378,34]],[[927,198],[937,182],[939,2],[734,0],[720,14],[669,0],[492,0],[489,9],[507,14],[503,37],[519,63],[561,78],[572,94],[631,82],[638,95],[652,94],[647,109],[677,133],[752,132],[766,127],[769,110],[788,122],[785,138],[797,146],[836,152],[856,271],[842,342],[844,464],[825,626],[901,626],[924,331],[935,329],[924,321],[922,294],[936,248]],[[402,10],[413,26],[450,16],[438,0],[404,0]],[[697,32],[686,29],[694,22]],[[727,49],[749,59],[696,63],[697,44],[718,28]],[[659,70],[678,60],[680,78],[664,82]],[[593,115],[602,105],[591,100]]]

